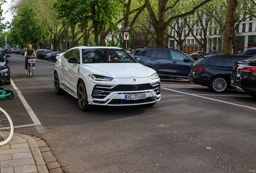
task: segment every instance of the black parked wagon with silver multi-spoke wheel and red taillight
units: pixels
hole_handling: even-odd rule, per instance
[[[230,87],[230,74],[235,61],[252,56],[214,55],[191,64],[188,81],[209,87],[215,93],[225,93]]]

